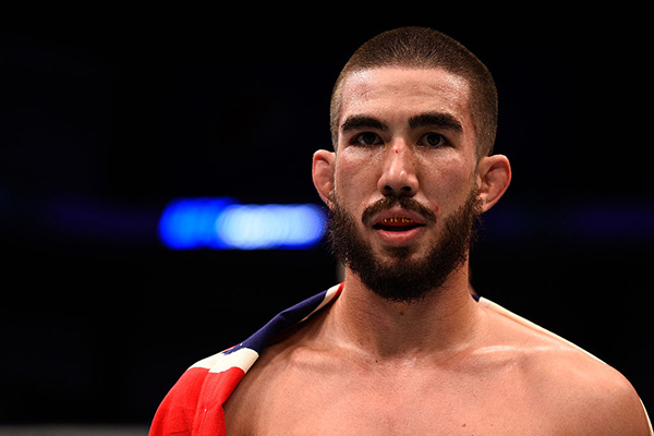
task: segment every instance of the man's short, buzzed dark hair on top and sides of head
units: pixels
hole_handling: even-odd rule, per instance
[[[463,77],[471,89],[471,116],[479,156],[493,152],[497,132],[497,88],[491,72],[470,50],[451,37],[426,27],[400,27],[364,43],[341,70],[331,93],[330,126],[334,148],[346,78],[354,72],[382,66],[441,69]]]

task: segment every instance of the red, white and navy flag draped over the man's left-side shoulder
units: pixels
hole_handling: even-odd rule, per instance
[[[150,436],[225,436],[222,405],[270,339],[308,318],[340,295],[334,286],[277,314],[245,341],[192,365],[161,401]]]

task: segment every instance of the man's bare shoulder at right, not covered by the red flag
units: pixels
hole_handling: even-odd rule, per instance
[[[576,344],[488,301],[489,322],[528,379],[531,397],[560,434],[651,435],[643,404],[618,371]]]

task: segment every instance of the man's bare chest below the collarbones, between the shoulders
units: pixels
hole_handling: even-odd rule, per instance
[[[250,377],[250,375],[249,375]],[[226,404],[228,435],[547,435],[516,374],[311,373],[243,380]]]

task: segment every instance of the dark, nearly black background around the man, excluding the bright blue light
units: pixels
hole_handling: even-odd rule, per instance
[[[175,252],[157,220],[177,197],[319,203],[311,158],[330,147],[338,72],[367,38],[415,24],[468,46],[500,95],[513,182],[472,253],[477,292],[617,367],[654,408],[638,11],[158,12],[3,16],[0,423],[147,423],[189,365],[335,283],[324,245]]]

